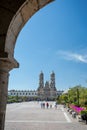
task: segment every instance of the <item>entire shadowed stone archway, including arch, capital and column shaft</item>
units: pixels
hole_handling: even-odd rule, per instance
[[[0,1],[0,130],[4,130],[9,71],[19,66],[14,59],[17,36],[31,16],[52,1]]]

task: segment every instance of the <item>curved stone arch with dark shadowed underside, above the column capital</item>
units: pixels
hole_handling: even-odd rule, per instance
[[[14,59],[14,47],[19,32],[34,13],[52,1],[0,1],[0,59]]]

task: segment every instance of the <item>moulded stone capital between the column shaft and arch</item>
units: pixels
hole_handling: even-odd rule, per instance
[[[0,71],[9,72],[13,68],[18,68],[19,63],[15,59],[0,58]]]

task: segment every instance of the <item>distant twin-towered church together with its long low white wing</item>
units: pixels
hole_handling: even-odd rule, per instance
[[[58,91],[55,86],[55,73],[50,74],[50,81],[44,84],[43,72],[39,75],[39,86],[37,90],[9,90],[9,96],[22,96],[28,97],[30,100],[37,98],[37,100],[53,100],[61,95],[64,91]]]

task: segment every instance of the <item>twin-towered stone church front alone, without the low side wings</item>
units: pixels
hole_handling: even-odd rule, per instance
[[[57,89],[55,86],[55,73],[50,74],[50,80],[44,83],[43,72],[39,75],[39,87],[37,89],[38,98],[40,100],[53,100],[57,97]]]

